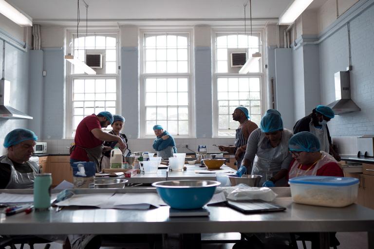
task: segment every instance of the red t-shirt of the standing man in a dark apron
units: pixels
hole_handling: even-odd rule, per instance
[[[103,141],[95,138],[95,136],[93,136],[91,132],[96,128],[101,129],[100,121],[96,117],[96,115],[92,114],[85,117],[79,123],[78,127],[76,127],[74,138],[75,145],[82,148],[91,149],[102,144]],[[75,160],[89,161],[87,152],[77,146],[75,146],[72,154],[70,155],[70,158]]]

